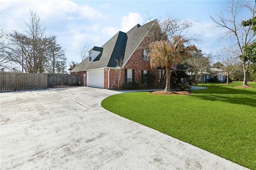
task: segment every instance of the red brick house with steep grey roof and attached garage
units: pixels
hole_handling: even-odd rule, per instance
[[[123,83],[138,82],[146,86],[143,75],[147,73],[156,76],[155,85],[158,85],[159,70],[151,68],[147,61],[147,50],[150,41],[148,35],[152,30],[161,30],[157,20],[140,26],[137,24],[127,33],[118,32],[101,47],[89,50],[89,57],[79,63],[71,73],[80,75],[81,85],[104,89],[118,88],[118,69],[115,59],[123,61],[120,74],[120,87]]]

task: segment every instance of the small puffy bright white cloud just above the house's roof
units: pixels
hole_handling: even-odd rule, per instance
[[[132,29],[136,24],[140,24],[143,22],[142,17],[138,13],[130,12],[128,16],[123,16],[122,18],[122,32],[128,32]]]

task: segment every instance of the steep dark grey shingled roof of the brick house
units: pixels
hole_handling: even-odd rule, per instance
[[[70,72],[74,73],[90,69],[116,67],[117,63],[115,59],[120,59],[120,57],[122,57],[123,63],[125,64],[156,22],[157,20],[153,20],[143,26],[137,24],[127,33],[119,31],[104,45],[96,47],[103,50],[92,62],[89,63],[89,57],[86,57],[86,59]],[[94,48],[95,47],[93,47],[92,50]],[[96,51],[99,50],[97,49]]]

